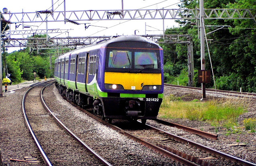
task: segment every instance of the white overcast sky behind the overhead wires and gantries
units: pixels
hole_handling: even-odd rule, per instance
[[[177,3],[179,0],[123,0],[124,10],[130,9],[177,9]],[[63,0],[53,0],[54,10],[55,11],[64,11]],[[122,0],[66,0],[66,11],[71,10],[121,10],[122,9]],[[180,4],[180,3],[179,3]],[[151,6],[152,5],[152,6]],[[5,0],[1,2],[2,8],[7,8],[8,11],[16,13],[16,12],[35,12],[40,10],[51,10],[52,0]],[[148,6],[148,7],[147,7]],[[146,8],[144,8],[146,7]],[[2,12],[2,8],[0,8]],[[6,18],[8,20],[8,18]],[[11,20],[12,21],[12,20]],[[125,23],[123,23],[125,22]],[[134,35],[134,31],[136,31],[137,35],[145,34],[145,22],[146,22],[146,34],[163,34],[163,20],[109,20],[109,21],[80,21],[80,25],[75,25],[71,23],[64,22],[54,22],[48,23],[48,29],[73,29],[70,30],[69,33],[63,33],[58,37],[65,36],[115,36],[115,35]],[[85,30],[84,23],[90,23],[88,29]],[[165,20],[165,29],[171,28],[173,26],[177,27],[178,24],[174,22],[174,20]],[[33,29],[46,29],[46,24],[43,23],[26,23],[26,25],[32,25]],[[116,25],[116,26],[114,26]],[[108,27],[101,28],[95,26]],[[114,26],[114,27],[112,27]],[[112,27],[112,28],[110,28]],[[24,30],[28,30],[29,28],[24,28]],[[159,31],[158,31],[158,30]],[[15,30],[15,24],[11,25],[11,30]],[[17,30],[22,30],[22,26],[19,26]],[[152,31],[156,30],[156,31]],[[54,37],[58,34],[49,34],[49,36]],[[29,35],[30,36],[30,35]],[[23,37],[27,37],[24,35]],[[22,38],[22,36],[13,35],[11,38]],[[16,48],[14,50],[18,50]],[[9,48],[8,52],[11,52],[11,48]]]

